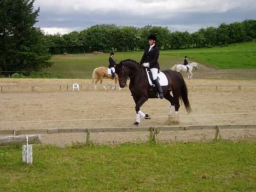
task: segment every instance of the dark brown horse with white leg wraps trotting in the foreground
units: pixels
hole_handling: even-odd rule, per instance
[[[150,119],[149,115],[144,114],[140,108],[148,98],[158,98],[158,92],[155,87],[150,86],[146,68],[139,65],[136,61],[124,60],[115,66],[115,72],[118,74],[121,88],[126,86],[127,80],[130,78],[129,89],[135,101],[135,110],[137,113],[136,122],[133,125],[137,126],[140,123],[140,118]],[[171,103],[169,115],[178,115],[179,99],[183,101],[187,112],[190,113],[191,107],[188,100],[187,85],[184,82],[182,74],[172,70],[162,72],[168,80],[168,85],[162,86],[162,91],[164,92],[164,98]],[[170,94],[171,91],[173,96]]]

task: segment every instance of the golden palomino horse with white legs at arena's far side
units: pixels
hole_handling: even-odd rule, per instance
[[[102,84],[102,81],[103,81],[104,77],[109,78],[109,79],[111,79],[111,77],[112,77],[111,74],[108,74],[108,68],[107,67],[97,67],[97,68],[94,69],[94,72],[92,72],[91,79],[92,79],[92,84],[94,84],[94,89],[95,90],[97,89],[95,84],[97,84],[99,80],[100,80],[100,83]],[[114,87],[112,88],[112,90],[115,89],[117,84],[118,84],[118,75],[115,74],[115,84],[114,84]],[[119,90],[121,90],[119,85],[118,85],[118,87],[119,87]],[[106,90],[105,85],[103,85],[103,88]]]

